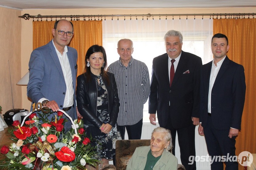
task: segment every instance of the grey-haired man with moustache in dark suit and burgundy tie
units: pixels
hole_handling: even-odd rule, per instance
[[[175,155],[175,137],[186,170],[196,169],[195,126],[199,124],[199,88],[202,59],[182,51],[182,34],[170,30],[164,36],[166,53],[153,59],[149,96],[150,123],[155,125],[156,112],[160,127],[171,130]]]

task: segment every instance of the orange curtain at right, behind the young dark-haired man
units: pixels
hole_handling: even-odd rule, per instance
[[[256,18],[214,19],[214,34],[228,37],[227,56],[244,66],[246,97],[242,115],[241,132],[236,139],[236,155],[242,151],[256,153]],[[239,164],[239,169],[243,169]]]

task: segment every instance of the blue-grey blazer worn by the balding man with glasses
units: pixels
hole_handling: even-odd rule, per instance
[[[71,68],[74,105],[77,67],[77,51],[68,47],[68,59]],[[48,100],[55,100],[60,109],[63,109],[66,95],[66,84],[58,55],[53,46],[53,41],[32,51],[29,61],[29,82],[27,85],[27,96],[34,102],[45,97]],[[76,113],[76,109],[75,109]],[[75,114],[76,116],[76,114]]]

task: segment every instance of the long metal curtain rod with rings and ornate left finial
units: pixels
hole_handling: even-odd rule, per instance
[[[174,17],[174,16],[186,16],[186,17],[188,17],[188,16],[194,16],[194,18],[195,18],[195,16],[202,16],[202,19],[203,19],[203,17],[204,16],[212,16],[212,17],[214,17],[214,16],[217,16],[217,19],[218,19],[218,16],[220,16],[220,18],[222,17],[222,16],[224,16],[225,18],[227,17],[227,16],[231,16],[231,18],[232,18],[232,16],[234,16],[234,18],[240,18],[240,17],[242,17],[242,18],[245,18],[245,16],[248,16],[248,18],[250,17],[250,15],[251,16],[253,16],[253,18],[254,18],[254,15],[255,15],[256,13],[194,13],[194,14],[150,14],[150,13],[148,13],[148,14],[129,14],[129,15],[40,15],[40,14],[38,14],[38,15],[30,15],[30,14],[28,14],[28,13],[25,13],[24,15],[22,15],[22,16],[18,16],[19,18],[24,18],[25,20],[29,20],[30,18],[36,18],[36,19],[39,19],[39,18],[51,18],[51,20],[52,20],[52,18],[56,18],[56,20],[57,20],[57,18],[71,18],[71,21],[72,21],[72,18],[75,20],[78,20],[80,17],[83,17],[83,18],[86,18],[86,17],[89,17],[89,18],[95,18],[95,17],[98,17],[98,19],[99,18],[101,18],[102,19],[102,17],[104,17],[105,19],[106,19],[106,17],[153,17],[154,18],[154,16],[159,16],[159,18],[161,17],[161,16],[164,16],[164,17],[166,17],[167,18],[167,16],[172,16],[172,17]]]

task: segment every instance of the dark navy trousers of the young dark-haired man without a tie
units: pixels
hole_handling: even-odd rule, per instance
[[[231,139],[228,137],[228,130],[217,130],[214,128],[211,116],[208,115],[207,118],[207,126],[204,128],[204,136],[206,141],[206,146],[209,155],[211,158],[214,158],[213,163],[211,164],[211,169],[213,170],[223,170],[223,162],[220,159],[216,158],[216,156],[225,156],[231,157],[231,161],[227,160],[226,170],[238,170],[238,162],[232,161],[232,157],[235,156],[235,144],[236,137],[232,137]]]

